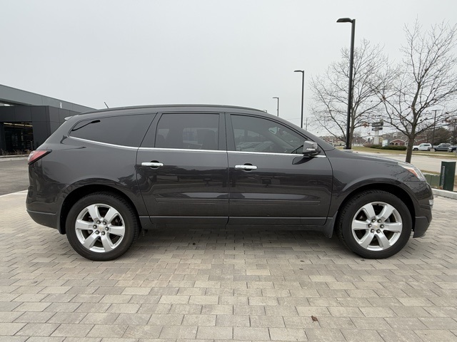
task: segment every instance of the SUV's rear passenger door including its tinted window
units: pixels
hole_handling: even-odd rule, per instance
[[[227,222],[228,163],[221,113],[157,115],[136,167],[153,223]]]

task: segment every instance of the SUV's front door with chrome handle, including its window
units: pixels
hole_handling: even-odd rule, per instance
[[[275,120],[230,115],[229,223],[326,222],[332,170],[326,155],[303,157],[306,137]]]

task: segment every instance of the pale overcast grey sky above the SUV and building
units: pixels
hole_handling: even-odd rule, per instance
[[[244,105],[300,124],[301,74],[361,38],[401,58],[403,27],[456,24],[457,1],[0,0],[0,83],[94,108]],[[319,133],[319,132],[314,132]],[[322,132],[323,133],[323,132]]]

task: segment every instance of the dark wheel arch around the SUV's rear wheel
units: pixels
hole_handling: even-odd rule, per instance
[[[68,195],[66,195],[64,199],[59,218],[59,232],[61,234],[66,234],[65,222],[71,207],[82,197],[93,194],[95,192],[111,192],[114,195],[122,197],[129,203],[131,208],[134,210],[136,217],[139,217],[134,202],[132,202],[129,196],[124,194],[124,192],[121,192],[121,190],[116,189],[115,187],[110,187],[109,185],[84,185],[70,192]],[[141,231],[141,223],[139,223],[139,228]]]

